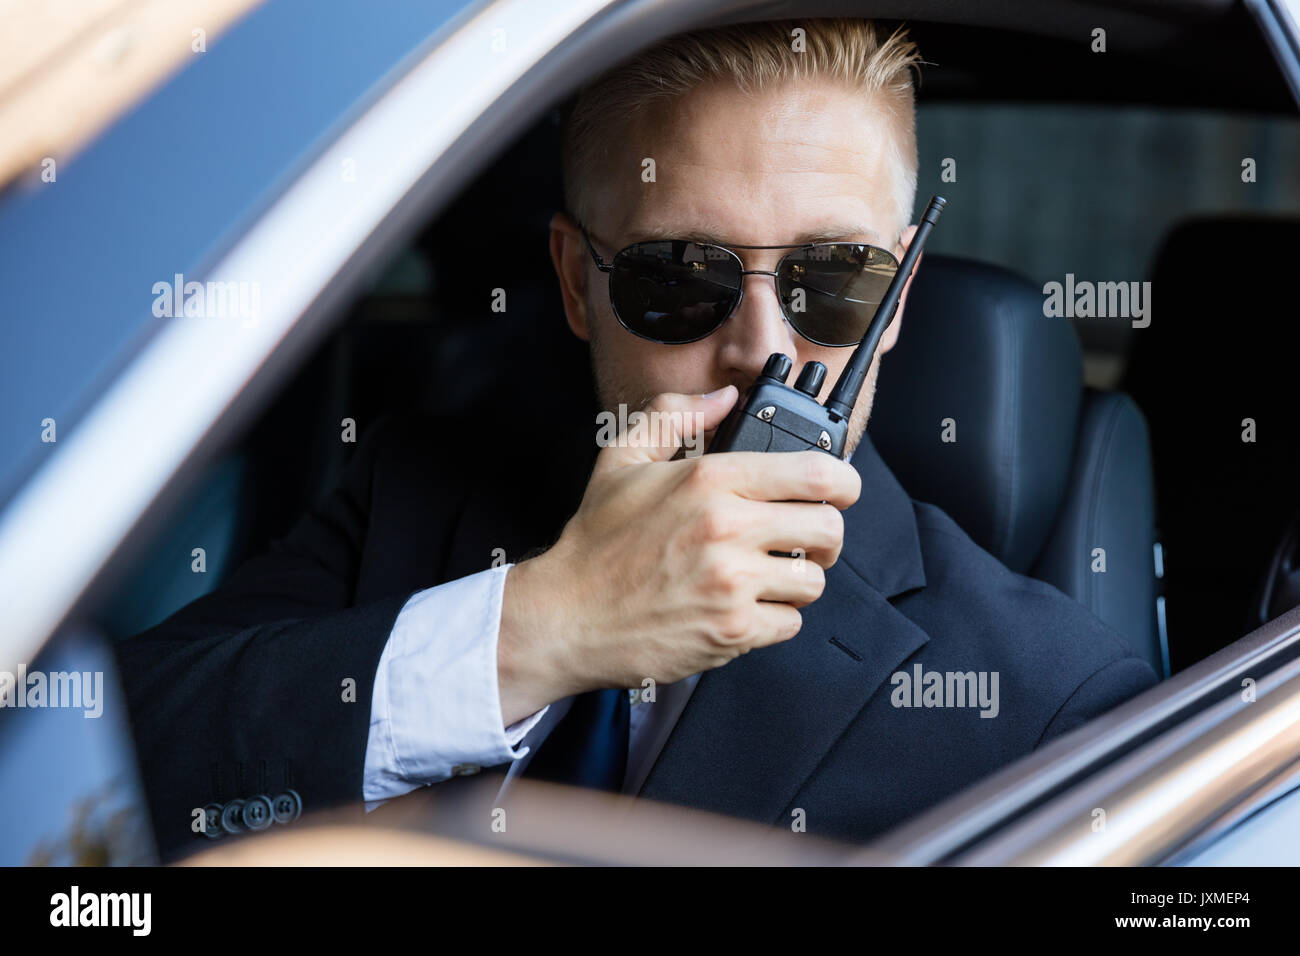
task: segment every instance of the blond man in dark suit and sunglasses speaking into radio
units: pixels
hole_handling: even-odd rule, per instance
[[[682,454],[771,354],[844,368],[872,317],[844,290],[915,232],[916,62],[868,22],[764,23],[580,95],[566,316],[601,407],[670,427],[598,453],[589,421],[472,454],[430,419],[369,434],[322,509],[121,648],[165,851],[278,793],[373,806],[485,767],[864,840],[1154,683],[907,498],[863,437],[875,364],[852,464]]]

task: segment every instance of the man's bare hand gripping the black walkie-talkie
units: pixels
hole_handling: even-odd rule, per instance
[[[664,394],[647,411],[707,431],[734,401],[731,388]],[[602,449],[556,544],[508,571],[507,724],[572,693],[672,683],[798,633],[798,609],[840,557],[858,472],[820,453],[675,460],[686,437]],[[794,549],[802,561],[770,554]]]

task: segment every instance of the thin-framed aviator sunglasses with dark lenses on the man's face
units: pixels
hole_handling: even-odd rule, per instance
[[[610,276],[610,303],[628,332],[660,345],[698,342],[722,328],[745,297],[745,276],[772,276],[781,313],[815,345],[858,345],[898,260],[862,242],[719,246],[650,239],[602,259],[582,229],[595,268]],[[746,269],[737,248],[788,248],[775,272]]]

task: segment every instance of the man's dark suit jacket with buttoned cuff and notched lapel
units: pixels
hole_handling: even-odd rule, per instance
[[[593,460],[590,429],[391,418],[268,553],[121,643],[164,856],[204,845],[208,803],[289,786],[306,810],[359,803],[402,605],[552,542]],[[870,438],[853,463],[862,496],[802,631],[702,675],[641,796],[781,826],[798,808],[809,832],[862,842],[1156,683],[1082,605],[911,501]],[[918,666],[996,674],[997,715],[901,706],[922,701],[898,676]]]

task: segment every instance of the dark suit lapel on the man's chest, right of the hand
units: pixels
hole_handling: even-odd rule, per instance
[[[699,678],[638,796],[776,822],[849,723],[930,639],[890,604],[924,587],[911,501],[868,438],[845,546],[803,628]]]

